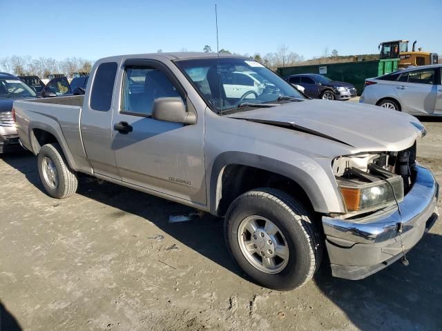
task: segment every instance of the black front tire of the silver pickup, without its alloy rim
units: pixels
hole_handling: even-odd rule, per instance
[[[271,219],[287,240],[289,259],[280,272],[262,272],[244,257],[238,230],[242,220],[250,215]],[[314,276],[322,259],[323,241],[311,220],[311,213],[289,194],[258,188],[231,203],[224,221],[224,234],[233,258],[253,281],[274,290],[293,290]]]

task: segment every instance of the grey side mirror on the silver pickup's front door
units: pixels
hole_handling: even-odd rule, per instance
[[[195,124],[196,116],[186,112],[186,106],[181,98],[167,97],[153,101],[152,118],[158,121]]]

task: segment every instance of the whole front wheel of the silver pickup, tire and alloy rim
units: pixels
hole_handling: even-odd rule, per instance
[[[311,214],[288,194],[261,188],[231,204],[224,223],[229,250],[253,281],[292,290],[320,265],[323,244]]]

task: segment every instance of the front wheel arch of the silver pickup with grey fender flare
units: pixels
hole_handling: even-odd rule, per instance
[[[224,152],[215,159],[209,178],[211,213],[224,216],[231,201],[247,190],[262,187],[267,181],[271,184],[287,184],[293,192],[296,192],[296,197],[309,203],[312,210],[329,212],[320,188],[311,174],[305,170],[261,155]]]

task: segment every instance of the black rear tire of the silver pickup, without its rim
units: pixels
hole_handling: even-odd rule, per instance
[[[57,175],[57,185],[53,185],[48,180],[47,175],[44,173],[45,158],[50,159],[55,165],[55,172]],[[46,192],[51,197],[57,199],[64,199],[70,197],[77,191],[78,179],[77,173],[70,169],[66,159],[64,158],[63,151],[58,143],[48,143],[44,145],[38,155],[37,159],[39,175],[41,183],[44,185]]]

